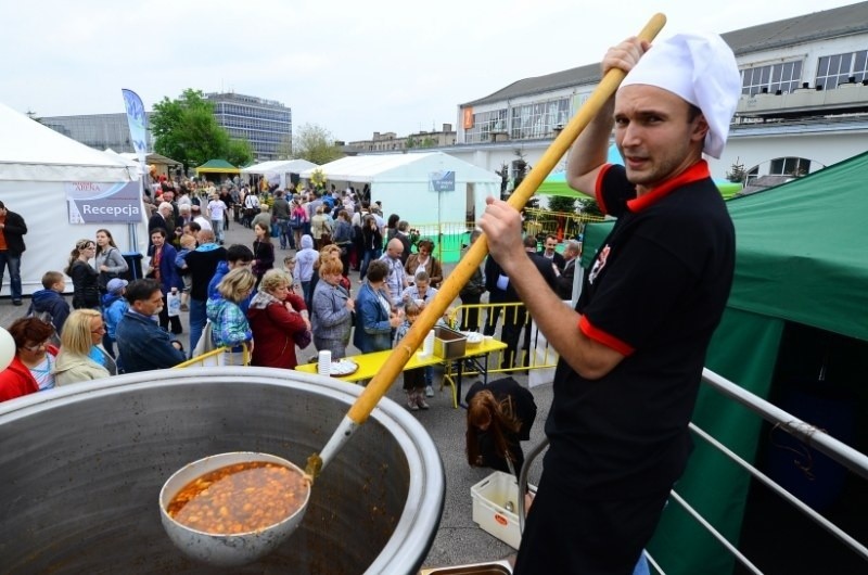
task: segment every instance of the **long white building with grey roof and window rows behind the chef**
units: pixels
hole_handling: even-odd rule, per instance
[[[743,166],[749,181],[781,181],[866,150],[868,2],[722,36],[736,54],[742,97],[724,155],[710,158],[715,178]],[[457,144],[439,150],[493,171],[512,166],[514,176],[520,161],[536,165],[599,81],[593,62],[459,104]],[[556,170],[565,164],[566,156]]]

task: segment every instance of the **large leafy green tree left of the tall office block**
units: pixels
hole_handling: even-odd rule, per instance
[[[184,169],[201,166],[212,158],[224,158],[234,165],[253,161],[246,140],[233,140],[217,124],[214,104],[201,90],[188,88],[177,100],[163,98],[151,114],[154,151],[177,159]]]

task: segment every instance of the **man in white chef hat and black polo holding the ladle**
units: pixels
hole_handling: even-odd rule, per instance
[[[732,280],[735,232],[703,152],[719,157],[741,93],[716,35],[636,38],[627,77],[576,140],[570,184],[617,220],[574,311],[521,250],[521,218],[488,199],[492,255],[560,354],[550,440],[515,574],[629,574],[691,450],[688,423]],[[624,166],[607,163],[609,139]],[[572,316],[571,316],[572,314]]]

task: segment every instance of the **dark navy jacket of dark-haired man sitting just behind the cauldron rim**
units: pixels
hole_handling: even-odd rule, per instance
[[[175,266],[175,263],[171,263]],[[116,331],[117,350],[127,373],[174,368],[186,358],[171,345],[169,334],[151,318],[127,310]]]

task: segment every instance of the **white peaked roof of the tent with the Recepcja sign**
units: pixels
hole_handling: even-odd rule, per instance
[[[133,178],[120,158],[0,104],[0,179],[116,182]]]

